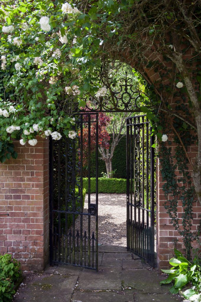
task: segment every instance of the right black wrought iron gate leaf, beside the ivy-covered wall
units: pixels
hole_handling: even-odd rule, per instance
[[[154,136],[144,115],[127,118],[126,136],[127,248],[154,265]]]

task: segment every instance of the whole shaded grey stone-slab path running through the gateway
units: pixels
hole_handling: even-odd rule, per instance
[[[119,246],[101,246],[98,272],[72,266],[49,266],[24,281],[14,302],[171,302],[182,301],[159,285],[164,276]]]

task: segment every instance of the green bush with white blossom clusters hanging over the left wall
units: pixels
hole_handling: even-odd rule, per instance
[[[0,27],[0,161],[4,162],[17,157],[13,139],[34,146],[37,135],[59,140],[70,131],[69,137],[74,137],[73,104],[83,105],[83,92],[91,89],[90,70],[84,68],[87,53],[77,59],[85,15],[74,5],[21,1],[2,5],[0,14],[5,20]]]

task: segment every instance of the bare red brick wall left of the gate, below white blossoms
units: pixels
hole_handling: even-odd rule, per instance
[[[18,158],[0,164],[0,252],[23,270],[42,270],[49,257],[49,144],[37,139],[14,142]]]

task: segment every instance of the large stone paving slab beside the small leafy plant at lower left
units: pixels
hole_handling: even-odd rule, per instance
[[[14,302],[70,302],[77,276],[41,275],[33,282],[27,284],[20,291],[20,295],[14,297]]]

